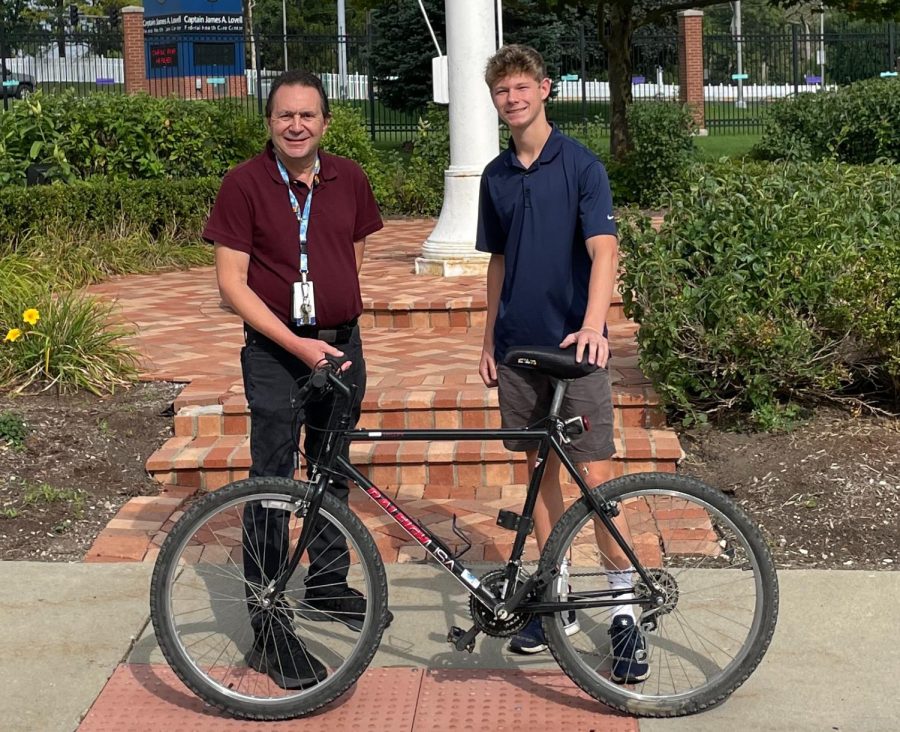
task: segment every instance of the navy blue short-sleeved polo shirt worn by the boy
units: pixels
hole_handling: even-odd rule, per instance
[[[475,247],[502,254],[506,267],[498,362],[511,347],[558,346],[581,328],[591,276],[585,240],[600,234],[616,234],[606,169],[555,127],[527,170],[512,140],[484,169]]]

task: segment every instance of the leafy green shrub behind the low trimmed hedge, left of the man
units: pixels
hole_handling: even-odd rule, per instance
[[[0,115],[0,185],[221,176],[256,154],[265,128],[234,102],[146,95],[34,94]]]

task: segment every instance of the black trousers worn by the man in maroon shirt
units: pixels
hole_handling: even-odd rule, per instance
[[[353,362],[344,375],[347,383],[359,387],[352,405],[350,426],[353,427],[359,421],[365,393],[366,365],[359,327],[353,327],[349,332],[348,329],[343,330],[348,340],[333,345]],[[245,329],[245,339],[241,369],[250,406],[250,475],[291,477],[300,437],[300,424],[296,420],[291,397],[302,385],[302,382],[297,383],[298,380],[308,376],[310,369],[252,329]],[[326,434],[320,430],[336,427],[337,415],[346,406],[346,397],[333,392],[322,401],[307,403],[302,419],[303,451],[310,458],[307,461],[307,476],[311,474],[310,462],[319,458],[326,441]],[[348,453],[349,446],[345,445],[345,458],[349,458]],[[345,479],[332,479],[327,490],[347,502],[350,487]],[[261,503],[249,504],[244,511],[244,578],[251,600],[253,588],[264,586],[274,579],[290,558],[289,520],[288,511],[269,508]],[[308,549],[310,568],[306,584],[307,588],[321,586],[321,591],[328,594],[329,586],[346,584],[349,567],[347,542],[343,534],[326,521],[319,521],[314,536]],[[259,629],[252,602],[250,615],[254,627]]]

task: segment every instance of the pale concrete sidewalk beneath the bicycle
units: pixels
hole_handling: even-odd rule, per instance
[[[120,664],[161,661],[148,619],[151,569],[0,562],[4,730],[75,730]],[[504,671],[558,670],[547,654],[512,656],[500,639],[480,639],[472,655],[451,651],[447,628],[468,619],[462,589],[433,566],[387,570],[396,620],[372,668],[469,669],[481,679],[486,669],[501,678]],[[900,573],[796,570],[779,577],[778,629],[744,686],[718,709],[677,720],[642,719],[641,730],[897,729]],[[131,719],[135,730],[160,728],[140,715]],[[516,729],[528,727],[518,722]]]

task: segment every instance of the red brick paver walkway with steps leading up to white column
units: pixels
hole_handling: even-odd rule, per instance
[[[484,427],[498,422],[496,390],[486,389],[477,374],[483,277],[412,274],[432,227],[429,220],[390,221],[369,238],[361,323],[369,374],[362,424],[370,428]],[[241,324],[222,306],[211,267],[115,278],[92,291],[114,299],[122,318],[134,325],[132,343],[140,353],[144,378],[187,382],[175,404],[180,410],[176,437],[148,462],[148,469],[168,485],[158,497],[135,499],[123,507],[87,556],[88,561],[150,561],[167,520],[186,496],[246,475]],[[637,368],[635,331],[617,308],[610,323],[610,376],[619,405],[617,450],[632,461],[630,469],[653,469],[660,455],[677,456],[680,448],[674,433],[659,423],[659,415],[647,416],[646,406],[654,403],[655,395]],[[521,460],[517,463],[498,443],[357,443],[353,450],[354,462],[365,466],[376,484],[412,501],[414,515],[421,512],[426,525],[439,534],[454,539],[443,524],[449,526],[453,512],[465,517],[476,543],[468,557],[493,560],[500,558],[498,552],[508,552],[509,538],[498,536],[496,512],[521,506],[526,471]],[[421,549],[385,522],[362,493],[351,495],[386,561],[421,556]],[[575,497],[570,487],[567,502]]]

